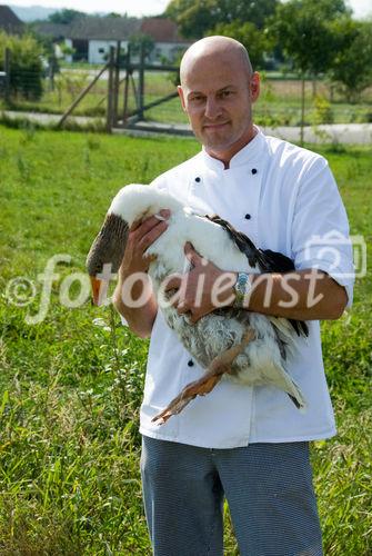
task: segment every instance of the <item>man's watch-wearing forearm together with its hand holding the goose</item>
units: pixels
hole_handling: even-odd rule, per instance
[[[252,288],[239,299],[238,272],[218,268],[194,250],[185,248],[192,268],[174,275],[165,290],[177,290],[172,305],[189,314],[190,322],[221,307],[242,307],[250,311],[296,320],[325,320],[341,317],[346,304],[345,289],[326,272],[305,269],[286,274],[250,275]],[[247,290],[245,290],[247,291]]]

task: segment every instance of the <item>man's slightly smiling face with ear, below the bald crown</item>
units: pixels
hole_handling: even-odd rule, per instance
[[[229,161],[252,139],[259,85],[259,75],[249,76],[237,57],[201,58],[185,72],[179,88],[182,107],[211,156]]]

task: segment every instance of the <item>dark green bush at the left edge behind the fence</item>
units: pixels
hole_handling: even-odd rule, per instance
[[[10,92],[13,97],[39,100],[42,96],[42,49],[31,36],[0,33],[0,66],[4,51],[10,49]]]

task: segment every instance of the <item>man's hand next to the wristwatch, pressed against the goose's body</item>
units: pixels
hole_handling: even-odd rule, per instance
[[[173,307],[179,315],[190,312],[190,322],[194,324],[214,309],[233,304],[237,274],[221,270],[203,259],[191,244],[185,244],[184,252],[192,265],[191,270],[184,275],[170,276],[164,289],[177,290]]]

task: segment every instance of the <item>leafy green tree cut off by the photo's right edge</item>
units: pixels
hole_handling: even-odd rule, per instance
[[[372,86],[372,22],[340,19],[332,30],[336,44],[329,76],[340,85],[349,101]]]

